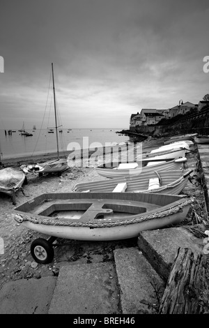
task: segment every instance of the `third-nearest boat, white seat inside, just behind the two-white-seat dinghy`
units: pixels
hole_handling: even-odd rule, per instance
[[[109,162],[95,167],[98,174],[107,178],[124,177],[125,175],[145,174],[153,171],[183,170],[187,168],[187,158],[142,159],[129,163]]]

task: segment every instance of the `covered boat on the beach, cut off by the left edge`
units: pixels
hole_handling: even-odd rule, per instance
[[[13,204],[16,204],[15,193],[26,183],[26,176],[22,171],[17,171],[12,167],[0,170],[0,192],[9,195]]]

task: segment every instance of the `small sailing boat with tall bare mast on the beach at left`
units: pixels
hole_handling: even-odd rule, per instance
[[[56,149],[57,149],[57,158],[52,161],[47,161],[44,163],[37,163],[34,165],[21,165],[21,170],[28,174],[29,172],[36,172],[39,176],[45,173],[59,173],[68,169],[68,161],[67,158],[59,158],[59,137],[58,137],[58,126],[56,119],[56,100],[55,100],[55,88],[54,88],[54,69],[52,63],[52,80],[53,80],[53,91],[54,91],[54,117],[55,117],[55,128],[56,128]],[[50,129],[48,133],[54,133],[53,129]]]

